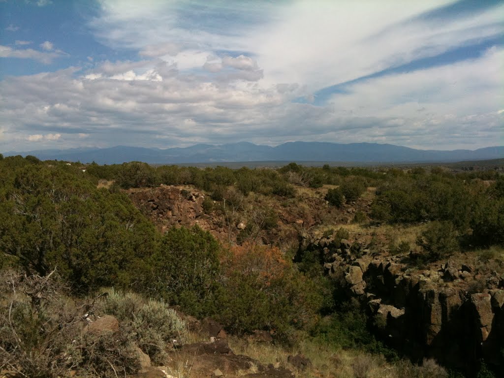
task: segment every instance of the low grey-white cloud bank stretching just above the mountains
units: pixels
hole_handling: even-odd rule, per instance
[[[503,54],[490,49],[449,67],[369,79],[325,106],[291,102],[303,91],[292,84],[196,81],[180,72],[156,81],[155,68],[89,80],[64,70],[6,80],[0,125],[12,145],[25,134],[70,146],[86,135],[96,146],[306,140],[475,149],[498,144],[504,125]]]

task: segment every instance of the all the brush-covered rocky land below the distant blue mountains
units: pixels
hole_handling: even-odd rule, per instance
[[[497,377],[498,169],[0,155],[0,376]]]

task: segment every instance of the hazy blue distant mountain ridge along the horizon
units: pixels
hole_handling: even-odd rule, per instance
[[[499,159],[504,147],[477,150],[417,150],[377,143],[287,142],[276,147],[249,142],[223,145],[197,144],[168,149],[116,146],[6,152],[4,156],[33,155],[41,160],[66,160],[98,164],[143,161],[151,164],[218,163],[246,161],[338,161],[366,163],[457,162],[462,160]]]

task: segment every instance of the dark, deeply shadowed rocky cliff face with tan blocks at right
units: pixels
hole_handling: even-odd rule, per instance
[[[408,257],[332,237],[304,237],[300,253],[318,254],[376,334],[413,361],[433,357],[474,376],[484,358],[504,373],[504,276],[493,269],[504,267],[448,261],[419,270]]]

